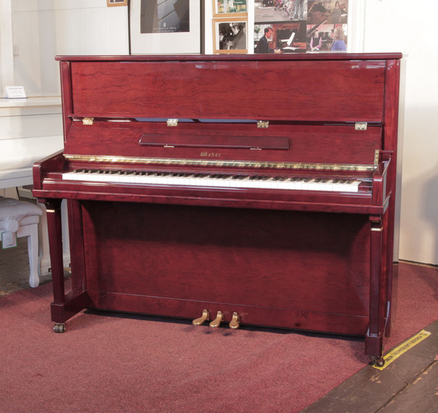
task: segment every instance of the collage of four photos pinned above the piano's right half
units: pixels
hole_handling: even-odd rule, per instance
[[[347,51],[348,0],[254,1],[254,53]]]

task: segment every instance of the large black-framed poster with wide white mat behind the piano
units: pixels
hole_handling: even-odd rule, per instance
[[[199,0],[131,0],[131,54],[201,51]]]

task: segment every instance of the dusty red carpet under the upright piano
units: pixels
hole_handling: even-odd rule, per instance
[[[299,412],[366,366],[362,339],[81,313],[52,285],[0,298],[1,412]],[[388,350],[435,321],[438,270],[399,265]],[[105,313],[106,314],[106,313]]]

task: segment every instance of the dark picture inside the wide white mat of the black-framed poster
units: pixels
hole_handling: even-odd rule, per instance
[[[188,0],[142,0],[140,33],[190,31]]]

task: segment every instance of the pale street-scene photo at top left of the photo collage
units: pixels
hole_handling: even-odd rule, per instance
[[[254,21],[307,20],[307,0],[261,0],[254,2]]]

